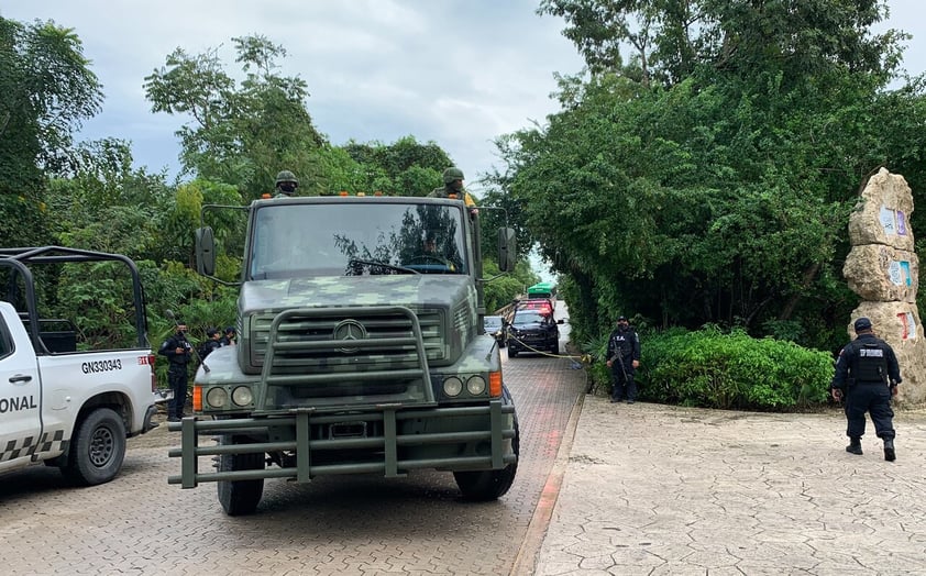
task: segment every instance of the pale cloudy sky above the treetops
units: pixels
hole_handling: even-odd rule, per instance
[[[905,67],[926,69],[926,4],[890,0],[883,27],[914,34]],[[560,31],[534,13],[539,0],[3,0],[0,15],[71,27],[103,84],[103,111],[84,139],[133,144],[135,160],[177,170],[179,117],[152,114],[142,82],[176,47],[189,54],[262,34],[288,52],[283,74],[308,82],[317,129],[332,143],[434,141],[472,186],[498,162],[493,140],[556,110],[553,73],[582,60]]]

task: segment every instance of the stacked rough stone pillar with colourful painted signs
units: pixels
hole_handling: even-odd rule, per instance
[[[926,334],[916,308],[919,259],[913,247],[910,214],[913,195],[903,176],[885,168],[871,177],[856,211],[849,217],[852,246],[842,275],[862,302],[852,311],[847,332],[859,317],[868,317],[874,333],[897,355],[903,384],[897,399],[926,399]]]

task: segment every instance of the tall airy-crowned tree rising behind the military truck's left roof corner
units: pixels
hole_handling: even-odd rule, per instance
[[[283,168],[300,178],[301,193],[327,191],[318,155],[326,142],[306,110],[306,81],[278,74],[283,46],[260,35],[232,42],[245,73],[240,84],[225,71],[217,48],[199,55],[177,48],[145,77],[153,112],[190,119],[177,131],[184,169],[235,184],[246,200],[272,192]]]

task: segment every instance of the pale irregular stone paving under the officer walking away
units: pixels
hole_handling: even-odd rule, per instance
[[[926,574],[926,411],[897,461],[845,417],[611,405],[586,397],[532,572]],[[567,444],[567,442],[565,443]]]

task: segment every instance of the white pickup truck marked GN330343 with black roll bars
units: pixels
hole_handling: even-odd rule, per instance
[[[130,347],[78,351],[68,320],[42,319],[37,264],[122,263],[131,276],[137,337]],[[125,256],[47,246],[0,248],[0,474],[44,462],[78,485],[119,474],[126,437],[147,432],[157,401],[137,269]],[[14,307],[16,302],[19,306]],[[47,308],[47,307],[46,307]]]

